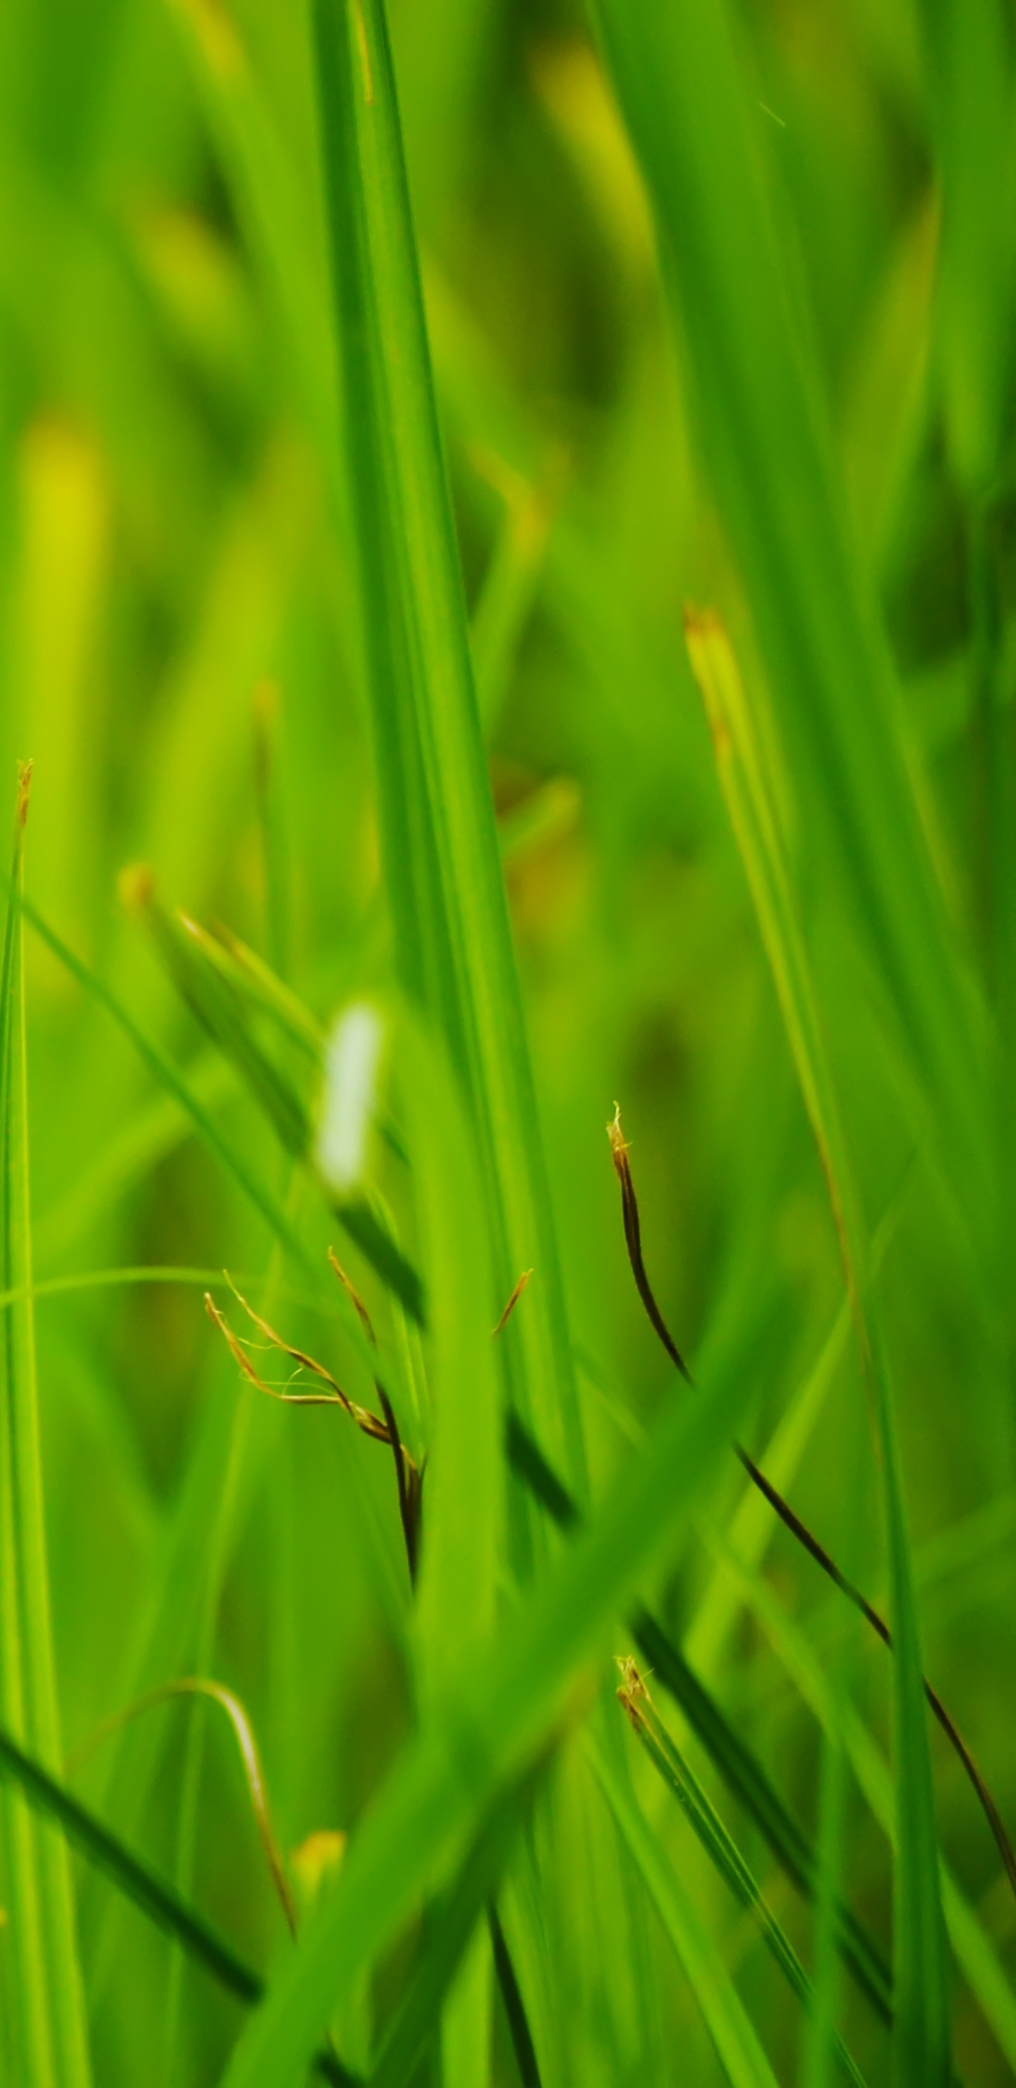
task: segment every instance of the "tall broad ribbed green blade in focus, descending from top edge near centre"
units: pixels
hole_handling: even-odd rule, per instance
[[[441,459],[385,15],[316,0],[314,46],[349,499],[380,839],[403,986],[439,1023],[481,1146],[495,1280],[539,1270],[504,1343],[512,1395],[552,1401],[583,1470],[462,578]]]

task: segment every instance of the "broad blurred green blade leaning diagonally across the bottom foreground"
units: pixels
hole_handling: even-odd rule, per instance
[[[240,2040],[228,2088],[268,2088],[297,2073],[330,2009],[449,1867],[483,1806],[546,1748],[606,1622],[661,1545],[673,1547],[686,1528],[744,1401],[746,1386],[728,1382],[709,1399],[694,1393],[669,1407],[610,1503],[548,1570],[498,1650],[458,1675],[441,1714],[364,1817],[314,1936]]]

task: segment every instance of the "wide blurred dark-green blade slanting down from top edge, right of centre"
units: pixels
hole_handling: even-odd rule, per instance
[[[914,1071],[983,1219],[978,1011],[907,777],[876,608],[842,522],[813,357],[792,322],[730,8],[598,0],[596,19],[656,211],[696,424],[790,754],[807,852],[832,841]]]

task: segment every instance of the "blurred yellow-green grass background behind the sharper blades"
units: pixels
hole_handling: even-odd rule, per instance
[[[1016,1821],[1014,29],[1001,4],[970,6],[970,33],[932,40],[928,54],[907,0],[744,0],[732,13],[855,562],[899,672],[907,773],[955,946],[1001,1036],[997,1111],[995,1073],[970,1075],[997,1165],[974,1155],[964,1171],[949,1144],[932,1159],[926,1098],[840,902],[834,837],[809,814],[807,770],[784,777],[870,1224],[901,1194],[880,1290],[926,1670]],[[393,0],[391,31],[583,1418],[604,1485],[625,1447],[613,1407],[648,1420],[671,1384],[623,1255],[602,1134],[617,1096],[663,1309],[705,1378],[751,1372],[759,1449],[807,1384],[842,1290],[684,651],[684,603],[723,612],[759,691],[763,666],[698,461],[642,180],[581,8]],[[234,40],[249,67],[236,92]],[[324,230],[307,31],[299,10],[268,0],[230,0],[228,15],[217,0],[10,0],[0,98],[0,779],[13,810],[15,758],[33,758],[27,887],[280,1184],[270,1132],[182,1011],[117,879],[153,864],[167,904],[228,923],[322,1021],[389,977],[337,524],[343,457],[314,305]],[[284,251],[261,236],[245,136]],[[29,1100],[40,1282],[140,1263],[263,1278],[265,1228],[33,940]],[[332,1340],[299,1299],[282,1309],[309,1349]],[[330,1416],[240,1395],[194,1286],[44,1297],[38,1338],[67,1748],[142,1687],[213,1672],[251,1712],[284,1848],[351,1827],[410,1718],[389,1468]],[[711,1549],[709,1531],[723,1541],[736,1528],[740,1491],[730,1460],[667,1610],[813,1821],[815,1718]],[[876,1460],[847,1347],[811,1397],[784,1491],[884,1599]],[[819,1662],[847,1662],[857,1710],[886,1746],[888,1662],[868,1645],[847,1660],[842,1606],[786,1533],[763,1520],[753,1543],[769,1593]],[[205,1739],[188,1750],[197,1729]],[[943,1850],[1012,1973],[1016,1911],[997,1852],[939,1737],[932,1760]],[[284,1948],[228,1733],[201,1706],[153,1714],[119,1752],[96,1754],[82,1789],[165,1869],[192,1875],[192,1896],[255,1963]],[[581,1787],[577,1837],[590,1802]],[[778,2080],[805,2080],[794,2002],[682,1823],[667,1831]],[[765,1869],[746,1829],[748,1844]],[[888,1938],[886,1842],[857,1796],[845,1881]],[[767,1885],[792,1925],[786,1888]],[[79,1906],[96,2082],[215,2080],[238,2027],[232,2002],[174,1969],[169,1946],[84,1875]],[[719,2080],[654,1917],[640,1915],[650,2021],[621,1977],[604,1992],[596,1921],[596,1906],[575,1911],[560,1942],[571,2030],[548,2078]],[[385,1979],[395,1990],[399,1967]],[[1008,2055],[999,2019],[955,1982],[957,2065],[978,2088],[1012,2078],[1012,2017]],[[353,2023],[353,2061],[357,2038]],[[855,2050],[872,2082],[888,2080],[863,2011]],[[493,2078],[512,2080],[500,2019]]]

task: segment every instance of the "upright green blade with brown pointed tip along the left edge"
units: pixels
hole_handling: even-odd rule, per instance
[[[36,1376],[36,1307],[31,1286],[31,1207],[27,1144],[25,967],[23,967],[23,833],[29,775],[21,773],[15,821],[15,869],[0,975],[0,1280],[10,1292],[2,1307],[0,1418],[0,1698],[4,1723],[46,1762],[61,1756],[61,1723],[52,1658],[50,1585],[40,1453],[40,1391]],[[61,1837],[6,1808],[10,1877],[13,1992],[21,2065],[38,2088],[88,2088],[88,2034],[77,1965],[71,1871]]]

